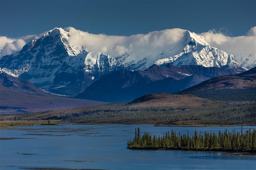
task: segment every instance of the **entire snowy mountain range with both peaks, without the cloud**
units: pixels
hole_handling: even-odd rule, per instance
[[[154,58],[89,52],[85,47],[70,45],[71,36],[61,28],[45,33],[21,51],[0,58],[0,72],[29,80],[52,93],[76,95],[111,72],[145,70],[154,63],[162,67],[167,63],[178,67],[241,67],[231,54],[211,47],[202,36],[189,31],[185,31],[184,37],[173,47],[163,47],[163,52]]]

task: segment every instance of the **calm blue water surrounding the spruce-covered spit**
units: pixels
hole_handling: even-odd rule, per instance
[[[153,125],[71,125],[18,127],[1,130],[0,169],[256,169],[256,158],[237,157],[241,153],[196,151],[128,150],[127,139],[141,133],[162,134],[174,130],[181,134],[204,131],[218,133],[234,127],[154,127]],[[235,127],[240,131],[241,127]],[[255,127],[243,127],[244,130]]]

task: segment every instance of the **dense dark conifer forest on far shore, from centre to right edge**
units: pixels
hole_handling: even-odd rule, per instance
[[[241,125],[255,124],[256,105],[220,105],[217,107],[127,107],[120,110],[99,110],[70,115],[79,123],[152,123],[152,124],[194,124]],[[74,117],[76,116],[76,117]],[[62,119],[61,117],[49,117]],[[70,117],[68,118],[70,119]],[[65,118],[64,118],[65,121]]]

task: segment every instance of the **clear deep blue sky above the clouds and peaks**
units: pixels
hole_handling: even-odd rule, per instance
[[[38,34],[55,27],[132,35],[171,28],[195,33],[228,28],[245,35],[256,25],[256,1],[1,0],[1,36]]]

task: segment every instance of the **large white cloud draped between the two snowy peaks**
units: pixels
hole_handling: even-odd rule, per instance
[[[113,57],[129,54],[131,59],[152,59],[149,63],[154,63],[160,57],[175,55],[184,48],[178,45],[184,38],[186,30],[169,29],[154,31],[148,34],[136,34],[131,36],[110,36],[104,34],[90,34],[88,32],[76,30],[72,27],[64,29],[69,31],[71,37],[68,41],[70,45],[79,48],[84,47],[88,52],[103,52]],[[168,51],[160,55],[163,51]],[[154,61],[153,61],[154,60]]]

